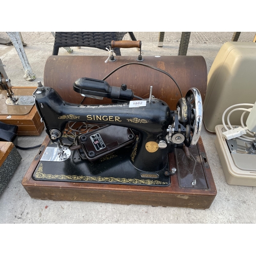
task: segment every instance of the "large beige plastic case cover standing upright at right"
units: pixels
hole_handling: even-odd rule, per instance
[[[256,44],[226,42],[212,63],[207,80],[203,122],[206,130],[214,133],[229,106],[256,101]],[[241,124],[241,114],[232,113],[232,125]]]

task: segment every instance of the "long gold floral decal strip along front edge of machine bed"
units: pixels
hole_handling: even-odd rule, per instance
[[[138,179],[126,179],[126,178],[113,178],[113,177],[90,177],[90,176],[78,176],[78,175],[53,175],[44,174],[42,172],[42,163],[40,163],[35,178],[37,179],[58,179],[58,180],[81,180],[81,181],[95,181],[95,182],[120,182],[120,183],[133,183],[133,184],[145,184],[145,185],[167,185],[167,182],[158,180],[138,180]]]

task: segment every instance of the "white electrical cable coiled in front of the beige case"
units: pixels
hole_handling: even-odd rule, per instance
[[[229,108],[227,108],[227,109],[224,111],[223,115],[222,115],[222,124],[223,124],[224,128],[226,129],[226,131],[229,131],[229,130],[234,129],[233,126],[232,126],[231,123],[230,123],[230,120],[229,120],[230,115],[231,115],[234,111],[244,111],[243,114],[242,114],[242,116],[241,116],[241,125],[242,125],[242,127],[246,130],[246,132],[247,132],[249,135],[253,136],[254,134],[253,134],[253,133],[250,133],[250,132],[248,131],[248,128],[244,125],[244,122],[243,122],[243,118],[244,118],[245,113],[246,113],[246,112],[250,112],[251,109],[237,108],[237,109],[231,110],[230,113],[229,113],[228,116],[227,116],[227,123],[228,123],[228,126],[229,126],[230,129],[229,129],[229,128],[227,127],[227,125],[225,124],[225,115],[226,115],[226,113],[227,113],[230,109],[236,108],[236,107],[238,107],[238,106],[253,106],[253,105],[254,105],[254,104],[251,104],[251,103],[241,103],[241,104],[234,104],[234,105],[230,106]],[[248,137],[248,136],[245,136],[245,135],[241,135],[239,138],[240,138],[240,139],[243,139],[243,140],[246,140],[246,141],[250,141],[250,142],[251,142],[251,141],[255,141],[255,138]]]

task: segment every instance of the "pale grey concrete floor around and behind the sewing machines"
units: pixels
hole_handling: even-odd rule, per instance
[[[163,47],[158,47],[158,32],[134,32],[142,40],[143,55],[177,55],[181,32],[166,32]],[[230,41],[233,32],[192,32],[187,55],[202,55],[209,71],[224,42]],[[252,41],[255,32],[242,32],[240,41]],[[37,86],[44,82],[44,66],[52,54],[54,38],[50,32],[22,32],[27,46],[25,51],[36,79],[23,79],[24,71],[13,46],[0,45],[0,58],[12,86]],[[0,32],[1,38],[8,38]],[[129,36],[125,36],[129,39]],[[125,39],[124,38],[124,39]],[[136,49],[123,49],[122,55],[137,55]],[[61,49],[61,55],[69,55]],[[106,55],[98,49],[74,48],[74,55]],[[46,137],[18,138],[20,146],[40,144]],[[199,210],[178,207],[152,207],[147,205],[118,205],[96,202],[44,201],[31,199],[22,186],[36,150],[18,150],[23,160],[16,169],[8,186],[0,196],[0,223],[256,223],[256,188],[226,183],[215,147],[216,135],[203,127],[201,137],[217,187],[217,196],[209,209]]]

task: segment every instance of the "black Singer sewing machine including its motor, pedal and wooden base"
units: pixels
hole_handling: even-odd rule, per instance
[[[87,77],[75,80],[73,90],[86,100],[109,98],[112,103],[70,103],[38,82],[33,95],[47,137],[22,182],[32,198],[211,205],[217,191],[200,137],[197,88],[184,96],[179,90],[174,110],[153,96],[150,85],[147,98],[125,84],[115,87]]]

